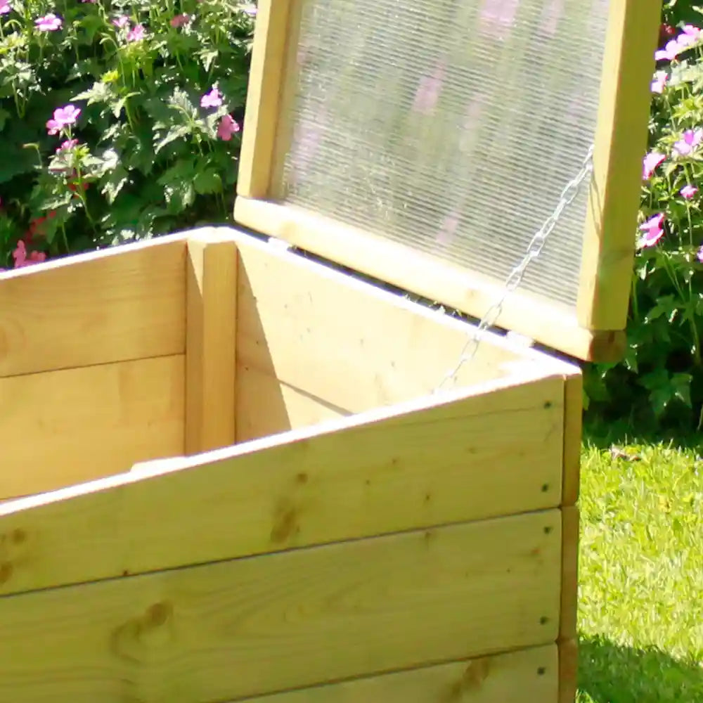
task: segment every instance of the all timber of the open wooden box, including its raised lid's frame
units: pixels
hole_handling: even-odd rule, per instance
[[[659,17],[610,5],[578,307],[498,318],[582,359],[622,343]],[[252,58],[236,219],[269,238],[0,278],[2,700],[574,699],[579,368],[463,359],[476,325],[349,269],[476,316],[498,283],[274,193],[296,6]]]

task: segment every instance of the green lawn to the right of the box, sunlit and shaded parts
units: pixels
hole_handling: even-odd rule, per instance
[[[703,703],[703,461],[586,446],[578,703]]]

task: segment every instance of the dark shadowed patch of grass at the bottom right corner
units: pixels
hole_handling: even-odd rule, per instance
[[[703,662],[687,664],[656,648],[636,650],[582,636],[579,689],[593,703],[701,703]]]

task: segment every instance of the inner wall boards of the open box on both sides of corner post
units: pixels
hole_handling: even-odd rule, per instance
[[[226,444],[426,396],[458,361],[470,325],[217,231],[237,251],[236,429]],[[186,453],[188,236],[0,280],[0,499]],[[486,334],[456,386],[557,366]]]

